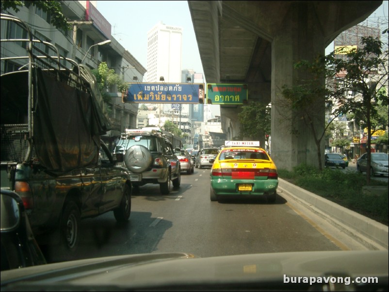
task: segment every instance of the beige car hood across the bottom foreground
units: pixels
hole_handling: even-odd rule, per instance
[[[75,260],[2,271],[1,291],[82,291],[86,287],[88,291],[95,288],[117,291],[118,288],[199,284],[282,284],[285,277],[324,275],[350,276],[351,280],[357,276],[374,276],[379,277],[380,283],[388,283],[388,251],[287,252],[210,258],[154,253]]]

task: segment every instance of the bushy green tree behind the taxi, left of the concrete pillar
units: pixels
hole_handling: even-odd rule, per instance
[[[271,134],[271,107],[268,104],[251,101],[242,106],[238,114],[241,123],[241,134],[252,141],[265,138],[269,142]]]

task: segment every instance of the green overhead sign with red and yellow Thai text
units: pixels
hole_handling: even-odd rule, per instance
[[[248,98],[246,84],[208,84],[207,103],[243,104]]]

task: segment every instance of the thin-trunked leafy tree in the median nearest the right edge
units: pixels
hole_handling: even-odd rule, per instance
[[[336,53],[328,56],[337,79],[339,109],[353,113],[357,124],[367,128],[367,168],[371,165],[371,141],[376,130],[388,127],[388,49],[377,37],[362,37],[362,48],[348,50],[347,58],[337,59]],[[343,52],[342,52],[343,53]],[[336,76],[335,75],[335,76]],[[367,172],[367,183],[370,173]]]

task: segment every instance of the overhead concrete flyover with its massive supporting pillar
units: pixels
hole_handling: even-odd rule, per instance
[[[365,20],[382,1],[240,0],[188,4],[206,82],[246,83],[249,100],[272,103],[271,155],[277,167],[291,170],[300,163],[317,166],[317,146],[310,129],[299,121],[288,122],[297,114],[280,106],[280,90],[283,85],[296,84],[303,76],[302,70],[293,70],[294,62],[324,54],[340,32]],[[240,107],[220,107],[227,139],[239,135]],[[312,105],[312,111],[318,117],[314,129],[323,132],[323,100]],[[264,133],[259,134],[264,145]]]

